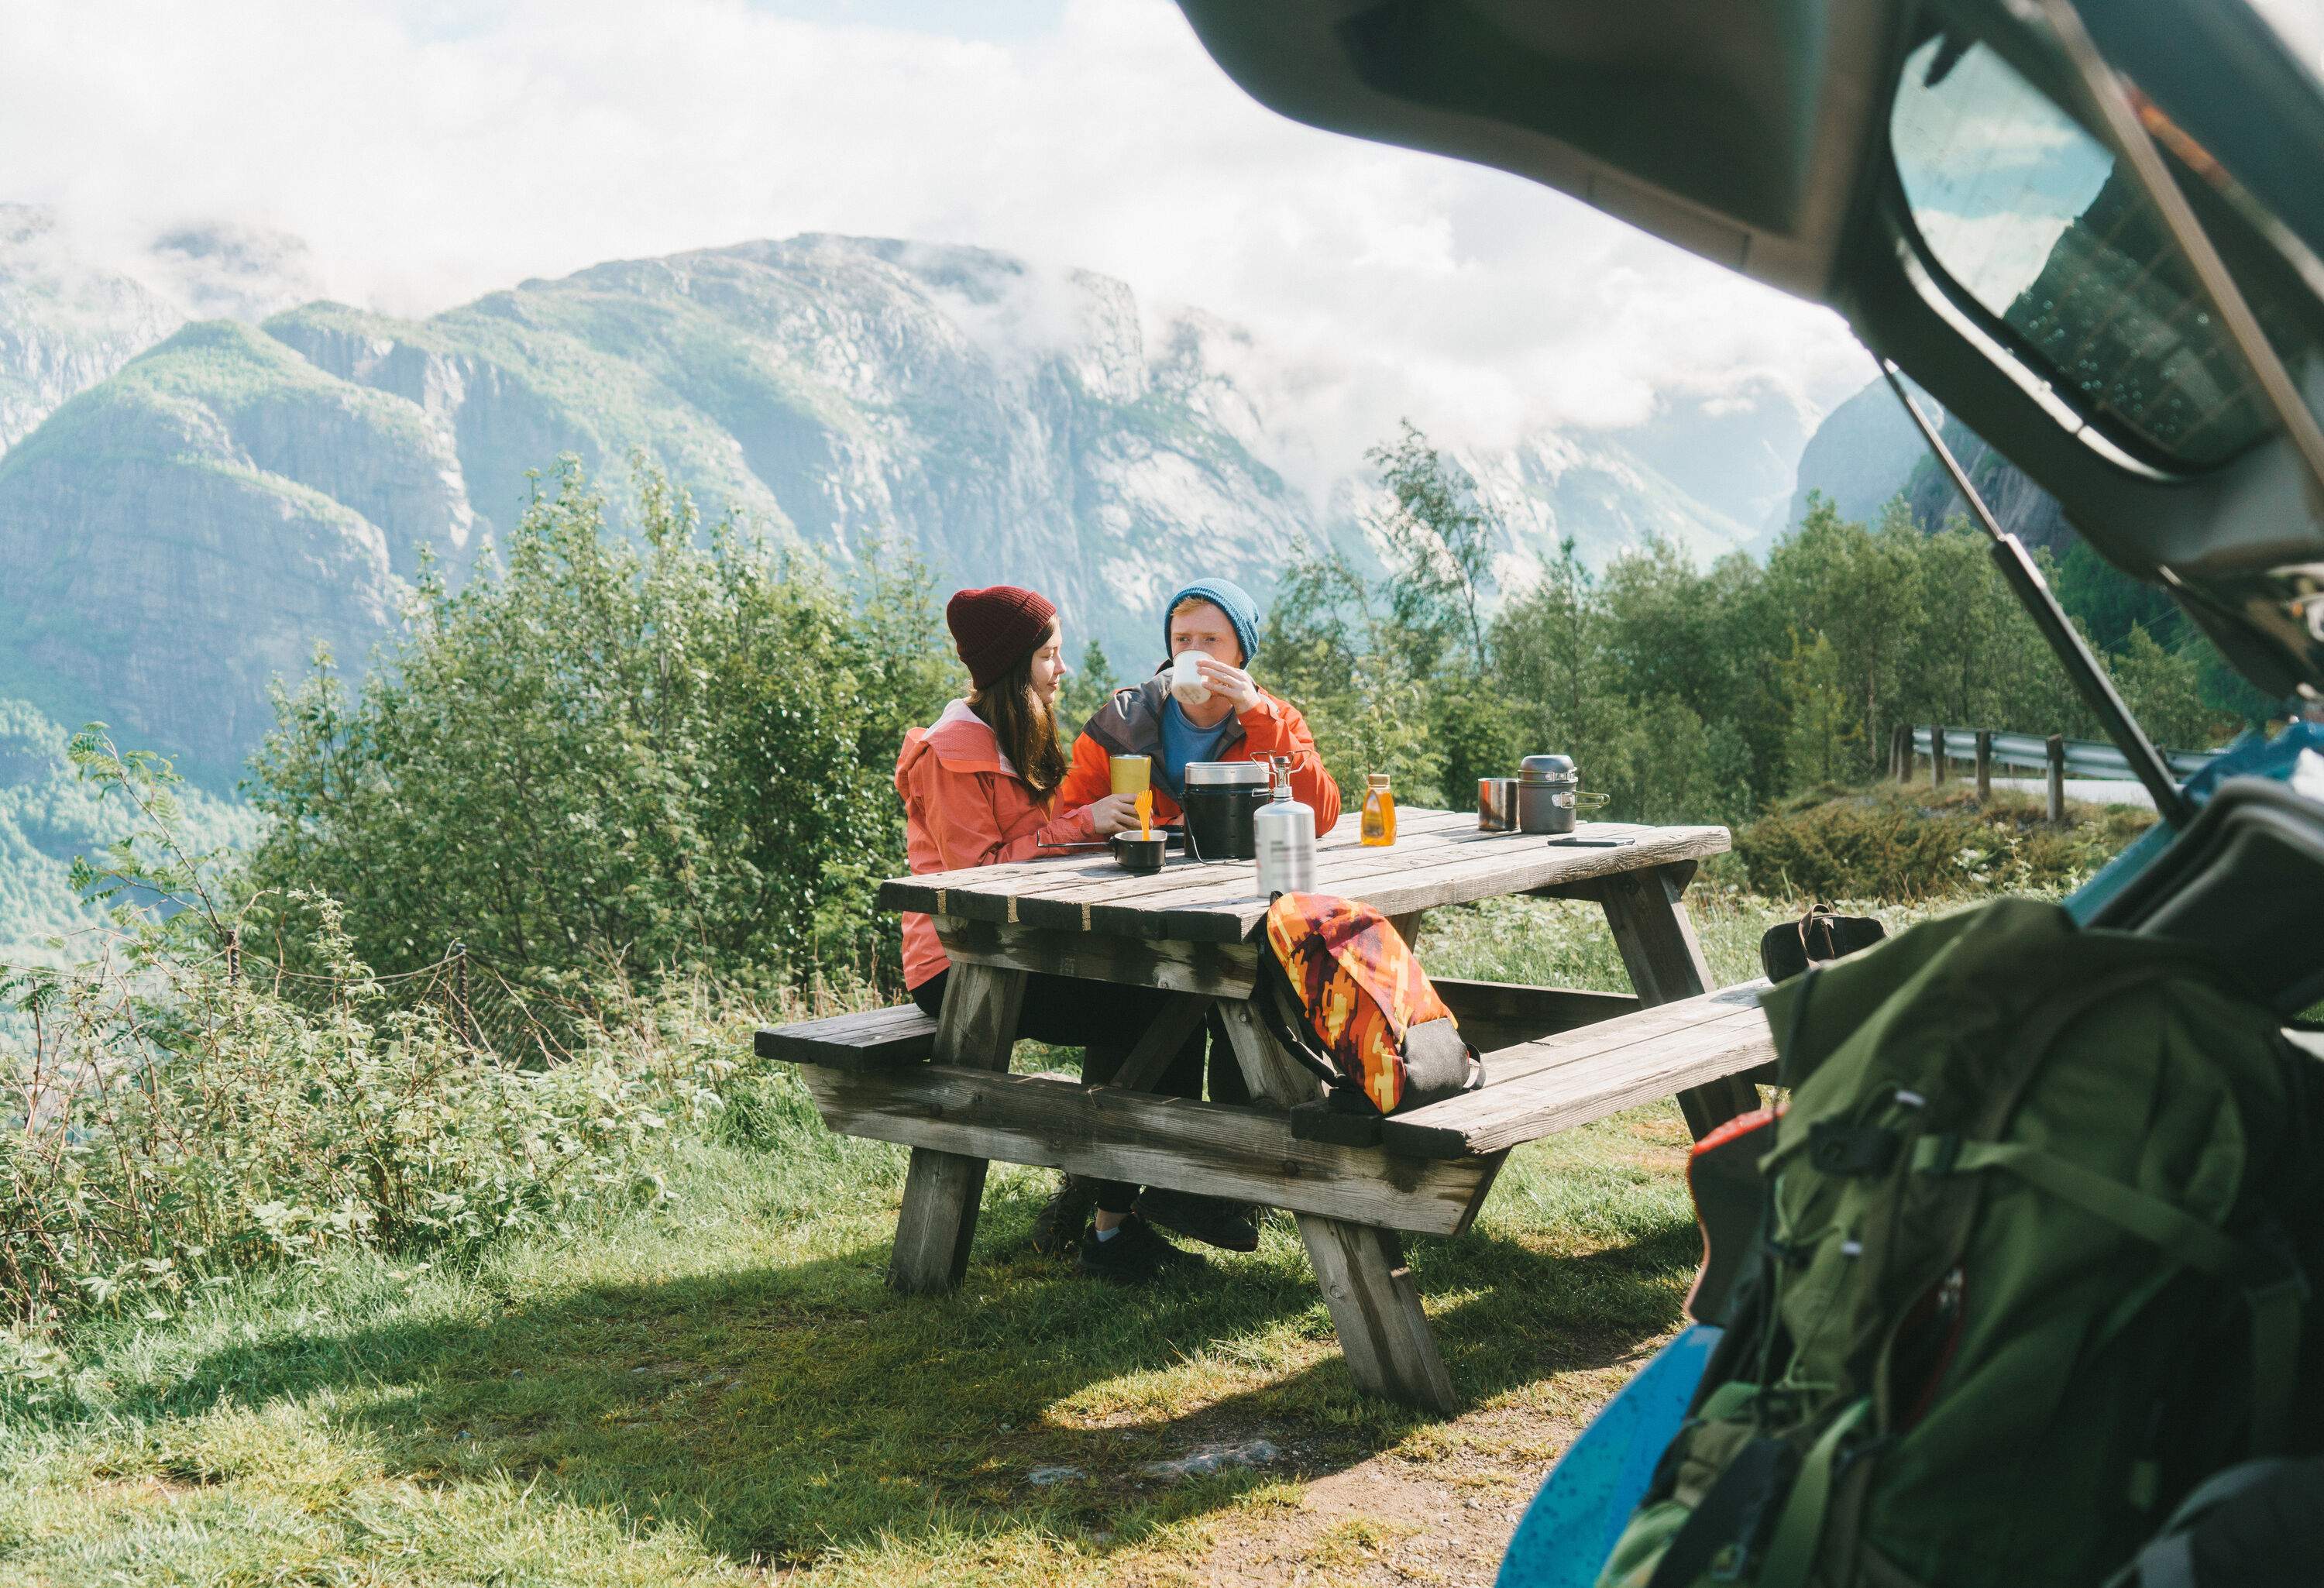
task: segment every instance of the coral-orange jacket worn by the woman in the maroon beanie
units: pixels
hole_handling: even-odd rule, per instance
[[[1050,818],[1057,800],[1041,800],[1025,786],[967,700],[944,707],[932,728],[904,735],[895,791],[904,797],[904,858],[913,874],[1034,860],[1041,844],[1097,837],[1085,809]],[[904,911],[904,986],[916,988],[946,967],[937,923]]]

